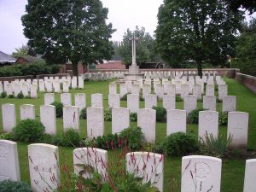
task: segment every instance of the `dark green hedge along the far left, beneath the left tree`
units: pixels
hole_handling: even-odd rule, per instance
[[[0,77],[54,74],[58,73],[59,65],[46,65],[45,61],[34,61],[29,64],[19,64],[0,68]]]

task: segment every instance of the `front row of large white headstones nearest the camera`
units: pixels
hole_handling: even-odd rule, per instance
[[[20,181],[20,166],[17,143],[0,140],[0,181]],[[164,156],[150,152],[126,154],[126,172],[150,182],[161,192],[164,190]],[[35,143],[28,145],[28,162],[32,191],[54,191],[61,186],[58,147]],[[108,181],[108,151],[100,148],[75,148],[73,150],[74,173],[79,174],[83,166],[91,166]],[[203,155],[184,156],[181,169],[181,192],[220,192],[222,160]],[[67,174],[67,173],[63,173]],[[90,178],[85,170],[83,177]],[[256,191],[256,160],[247,160],[243,192]]]

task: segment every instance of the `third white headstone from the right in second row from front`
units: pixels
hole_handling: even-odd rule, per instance
[[[175,132],[186,132],[187,115],[185,110],[170,109],[167,110],[167,133],[169,136]]]

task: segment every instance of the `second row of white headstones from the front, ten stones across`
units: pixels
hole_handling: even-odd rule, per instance
[[[103,136],[104,134],[104,109],[90,107],[87,113],[87,137]],[[3,104],[3,131],[12,131],[16,125],[15,105]],[[170,109],[167,111],[166,135],[187,129],[187,112],[185,110]],[[20,105],[20,120],[35,119],[35,108],[33,105]],[[40,120],[45,127],[45,132],[56,134],[55,106],[40,106]],[[79,131],[79,107],[63,107],[63,128]],[[156,134],[156,112],[154,109],[141,108],[137,111],[137,126],[141,127],[143,135],[148,143],[155,143]],[[130,127],[130,109],[112,109],[112,133],[119,133]],[[228,113],[227,136],[232,137],[230,148],[247,149],[248,113]],[[201,111],[199,113],[198,137],[205,140],[207,134],[218,137],[218,112]]]

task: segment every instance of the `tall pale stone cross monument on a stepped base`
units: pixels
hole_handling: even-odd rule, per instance
[[[135,37],[135,34],[132,34],[132,38],[130,38],[132,41],[132,61],[131,66],[129,67],[129,73],[125,73],[125,80],[139,80],[143,79],[143,74],[139,73],[139,67],[136,63],[136,41],[138,38]]]

